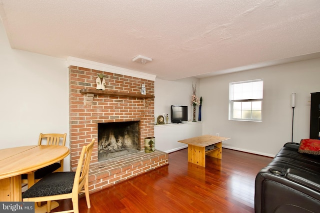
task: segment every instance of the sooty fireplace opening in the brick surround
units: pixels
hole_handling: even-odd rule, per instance
[[[139,152],[139,121],[98,123],[98,161]]]

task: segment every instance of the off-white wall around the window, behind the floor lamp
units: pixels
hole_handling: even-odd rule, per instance
[[[291,141],[291,93],[296,93],[293,142],[309,137],[310,92],[320,91],[320,59],[200,79],[203,134],[229,137],[223,147],[274,156]],[[228,120],[229,82],[263,78],[262,122]]]

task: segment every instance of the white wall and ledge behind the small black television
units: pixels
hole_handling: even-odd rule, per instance
[[[196,84],[196,95],[199,96],[199,79],[184,78],[167,81],[159,78],[154,82],[154,116],[168,114],[168,123],[171,123],[171,105],[188,106],[188,123],[157,125],[154,127],[155,149],[163,152],[174,152],[186,148],[187,145],[177,142],[186,138],[202,134],[202,122],[192,122],[193,107],[191,106],[192,83]],[[196,107],[198,120],[198,107]]]

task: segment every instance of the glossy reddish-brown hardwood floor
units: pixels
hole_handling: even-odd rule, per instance
[[[187,162],[187,149],[169,154],[169,165],[79,199],[80,213],[253,213],[254,179],[272,159],[222,150],[206,167]],[[67,210],[59,201],[54,211]]]

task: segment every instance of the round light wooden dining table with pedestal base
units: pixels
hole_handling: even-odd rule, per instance
[[[65,146],[33,145],[0,150],[0,201],[18,202],[21,198],[21,174],[30,173],[64,159]]]

